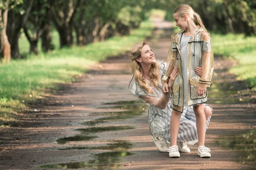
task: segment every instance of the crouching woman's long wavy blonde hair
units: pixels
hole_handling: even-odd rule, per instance
[[[142,41],[134,44],[131,47],[131,56],[130,56],[130,59],[132,60],[131,70],[134,74],[135,80],[139,83],[140,87],[150,94],[153,91],[153,87],[149,86],[148,81],[144,79],[142,68],[140,67],[140,63],[136,61],[137,58],[141,57],[141,49],[143,48],[144,45],[146,45],[146,42]],[[158,80],[160,77],[157,63],[154,63],[151,65],[150,71],[149,71],[149,77],[150,77],[151,85],[157,86],[159,83]]]

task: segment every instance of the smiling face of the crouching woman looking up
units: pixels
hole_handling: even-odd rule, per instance
[[[137,61],[143,64],[149,64],[149,65],[157,62],[157,60],[154,58],[153,51],[147,44],[145,44],[141,48],[140,58],[138,58]]]

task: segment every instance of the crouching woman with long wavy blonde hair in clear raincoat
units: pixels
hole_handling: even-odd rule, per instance
[[[139,42],[131,47],[131,69],[134,76],[129,84],[129,91],[145,102],[148,108],[147,123],[151,131],[151,138],[161,152],[171,152],[170,118],[172,115],[172,91],[162,93],[161,77],[166,74],[168,64],[163,60],[156,60],[151,48],[145,42]],[[201,75],[201,68],[196,70]],[[169,90],[177,77],[177,68],[169,75]],[[212,107],[204,105],[206,124],[212,115]],[[178,132],[178,150],[190,152],[187,144],[197,142],[197,130],[193,107],[186,108],[180,118]]]

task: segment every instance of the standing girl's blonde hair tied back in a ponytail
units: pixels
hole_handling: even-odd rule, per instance
[[[191,6],[186,4],[181,4],[174,10],[174,14],[175,13],[177,13],[180,17],[184,17],[184,15],[186,14],[188,17],[193,19],[195,25],[199,25],[205,29],[204,24],[202,23],[201,17],[197,12],[195,12],[191,8]]]

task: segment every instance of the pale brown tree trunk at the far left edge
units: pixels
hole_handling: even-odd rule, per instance
[[[6,35],[6,26],[7,26],[7,18],[8,18],[8,10],[6,9],[3,13],[2,17],[2,10],[0,10],[0,28],[2,31],[0,32],[0,57],[3,57],[4,62],[11,61],[11,45],[8,41],[8,37]]]

